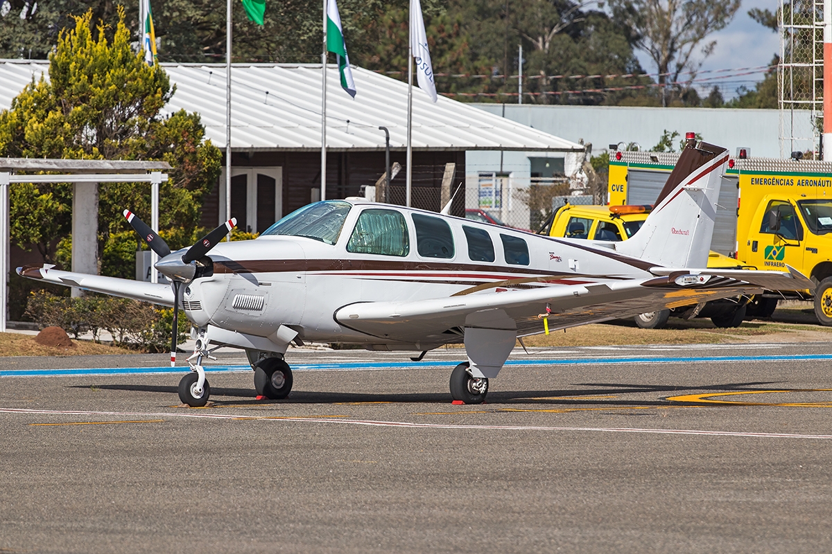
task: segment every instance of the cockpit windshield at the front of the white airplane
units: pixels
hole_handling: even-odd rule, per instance
[[[334,244],[338,242],[352,207],[351,203],[339,200],[310,203],[280,219],[261,234],[314,238],[322,243]]]

